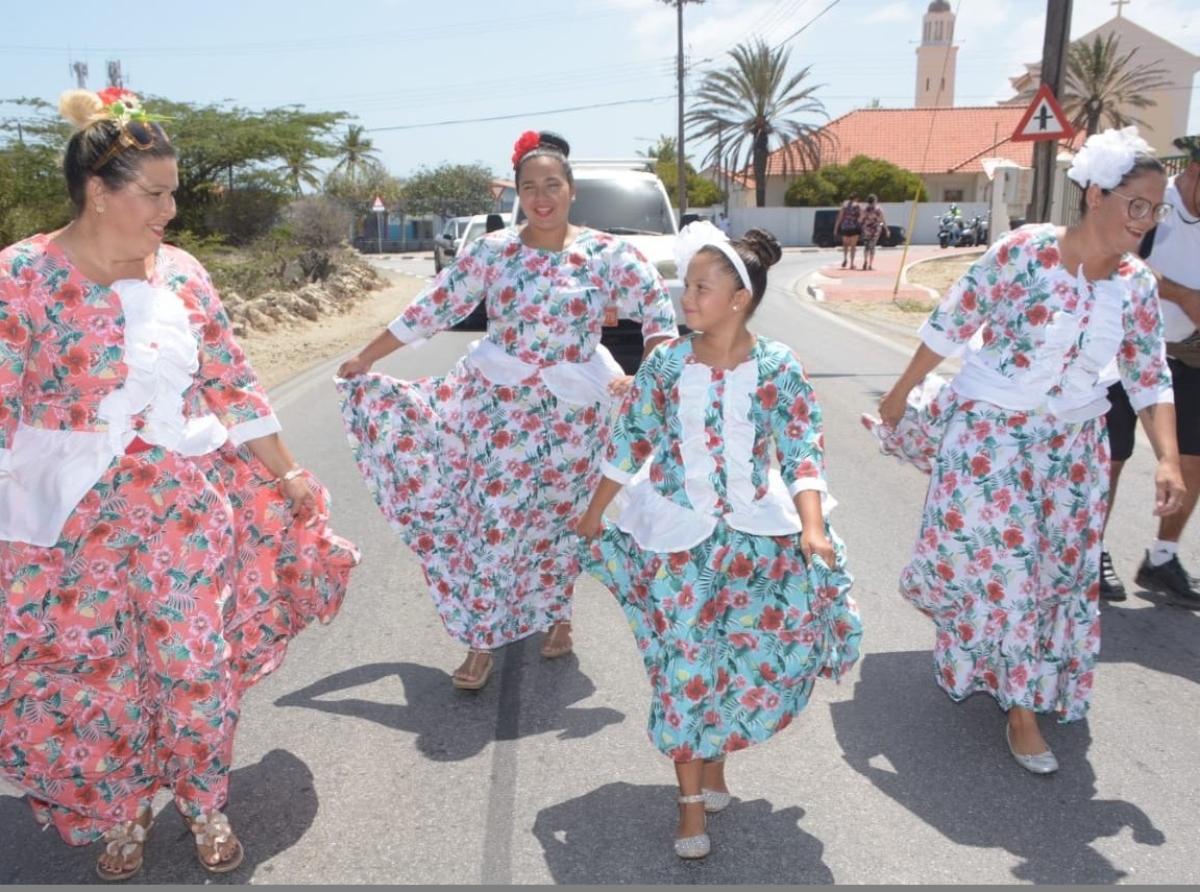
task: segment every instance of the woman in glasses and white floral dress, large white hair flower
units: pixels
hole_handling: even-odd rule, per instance
[[[1037,713],[1074,722],[1091,702],[1109,373],[1158,455],[1157,513],[1177,510],[1183,489],[1154,277],[1134,255],[1169,211],[1147,151],[1132,127],[1090,137],[1068,174],[1084,188],[1080,221],[995,244],[929,317],[880,403],[886,450],[916,447],[931,469],[900,591],[935,622],[938,684],[955,700],[991,694],[1013,758],[1040,774],[1058,764]],[[958,376],[925,389],[920,412],[906,407],[962,348]]]

